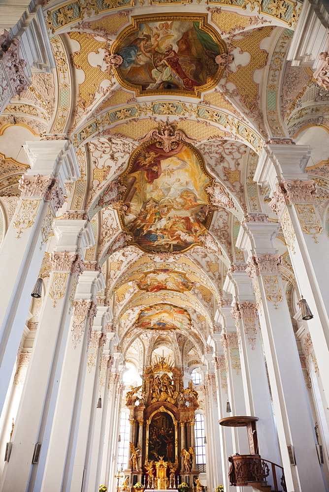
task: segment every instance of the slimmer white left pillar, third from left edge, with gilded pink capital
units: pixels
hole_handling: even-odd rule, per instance
[[[45,469],[40,472],[40,491],[51,488],[62,492],[69,490],[86,372],[87,344],[97,311],[96,293],[105,285],[99,269],[95,271],[95,263],[87,262],[87,266],[88,270],[79,277],[75,293],[48,456]]]

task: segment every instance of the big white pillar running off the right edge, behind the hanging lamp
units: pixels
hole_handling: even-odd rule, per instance
[[[328,381],[329,240],[316,206],[316,184],[303,172],[311,149],[275,142],[264,146],[254,179],[270,187],[269,205],[281,223],[300,294],[307,299],[313,313],[314,318],[307,324],[319,372],[322,379]],[[328,384],[324,385],[324,392],[326,411]],[[329,424],[329,415],[327,422]]]

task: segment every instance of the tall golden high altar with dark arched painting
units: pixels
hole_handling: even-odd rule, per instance
[[[132,387],[126,405],[130,409],[130,456],[125,470],[130,483],[147,489],[174,490],[184,481],[192,487],[199,471],[195,456],[197,392],[169,359],[157,358],[143,375],[142,387]]]

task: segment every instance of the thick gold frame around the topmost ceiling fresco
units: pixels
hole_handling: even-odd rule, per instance
[[[136,15],[132,17],[132,26],[129,26],[126,28],[122,33],[118,36],[118,38],[114,41],[111,47],[111,54],[116,54],[117,53],[117,48],[120,46],[120,44],[126,39],[126,37],[129,36],[133,31],[136,31],[139,29],[139,25],[143,24],[144,22],[160,22],[160,21],[191,21],[191,22],[199,22],[200,29],[203,31],[207,32],[211,37],[214,38],[216,43],[219,46],[220,54],[222,55],[223,53],[227,52],[227,47],[223,39],[220,37],[218,32],[207,23],[208,15],[207,14],[185,14],[185,13],[180,13],[180,14],[154,14],[154,15]],[[120,84],[125,87],[126,89],[130,91],[135,92],[135,96],[145,96],[147,95],[168,95],[168,94],[179,94],[179,95],[185,95],[186,97],[200,97],[202,92],[209,91],[210,89],[213,89],[216,87],[218,84],[222,73],[224,71],[224,66],[220,67],[218,66],[217,72],[210,82],[207,82],[203,86],[196,87],[194,91],[179,91],[179,90],[170,90],[170,91],[143,91],[141,86],[131,84],[130,82],[127,82],[120,73],[119,68],[113,68],[114,74]]]

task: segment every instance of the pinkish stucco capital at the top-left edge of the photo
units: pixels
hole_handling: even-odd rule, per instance
[[[21,94],[31,85],[25,73],[26,62],[20,57],[20,41],[8,31],[0,34],[0,113],[11,97]]]

